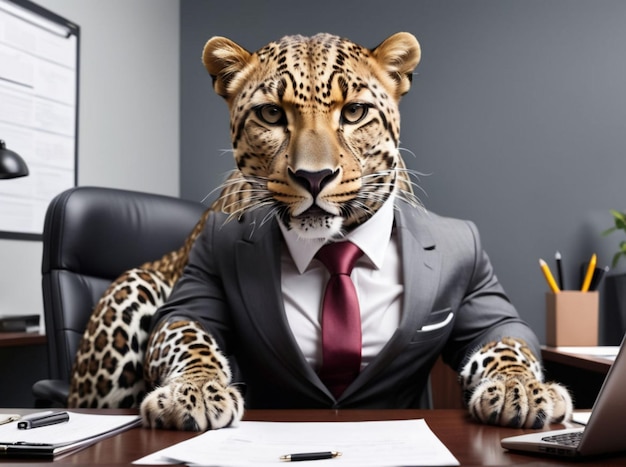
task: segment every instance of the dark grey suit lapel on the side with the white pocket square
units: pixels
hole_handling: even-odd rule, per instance
[[[400,242],[404,299],[400,325],[378,356],[361,372],[340,400],[349,398],[360,387],[386,370],[415,332],[422,327],[437,295],[441,257],[435,241],[420,217],[428,215],[404,202],[396,203],[395,226]]]

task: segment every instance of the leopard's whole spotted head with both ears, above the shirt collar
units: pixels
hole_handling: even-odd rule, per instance
[[[394,191],[414,200],[398,103],[419,60],[408,33],[371,50],[329,34],[284,37],[254,53],[210,39],[203,63],[230,109],[238,171],[224,190],[232,198],[236,187],[237,203],[222,206],[270,206],[301,238],[328,239]]]

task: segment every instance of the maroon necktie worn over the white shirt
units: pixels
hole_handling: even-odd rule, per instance
[[[320,378],[339,397],[361,370],[361,312],[350,273],[363,252],[350,242],[330,243],[315,255],[328,272],[322,308]]]

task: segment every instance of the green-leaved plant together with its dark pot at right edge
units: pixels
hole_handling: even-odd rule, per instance
[[[603,235],[609,235],[616,231],[622,231],[626,235],[626,212],[616,211],[611,209],[613,215],[613,227],[602,232]],[[604,302],[608,315],[611,320],[617,318],[619,322],[615,322],[616,329],[618,331],[621,340],[621,335],[626,332],[626,270],[620,268],[615,270],[618,266],[620,259],[626,258],[626,240],[622,239],[619,243],[619,249],[613,255],[613,261],[611,267],[613,271],[607,275],[604,284]],[[623,263],[623,262],[622,262]],[[619,330],[618,330],[619,328]],[[613,342],[613,344],[619,344],[619,342]]]

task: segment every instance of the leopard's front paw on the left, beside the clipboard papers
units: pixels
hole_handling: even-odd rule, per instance
[[[156,388],[140,408],[143,425],[149,428],[206,431],[237,424],[243,417],[244,402],[233,386],[215,379],[174,379]]]

